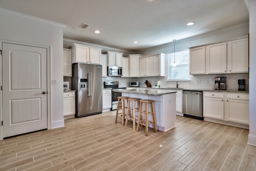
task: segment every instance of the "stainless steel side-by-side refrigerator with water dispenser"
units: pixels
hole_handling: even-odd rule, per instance
[[[102,113],[102,67],[96,64],[72,64],[71,87],[76,90],[76,115]]]

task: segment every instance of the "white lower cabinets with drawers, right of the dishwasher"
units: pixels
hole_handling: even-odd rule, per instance
[[[249,124],[249,94],[204,92],[204,117]]]

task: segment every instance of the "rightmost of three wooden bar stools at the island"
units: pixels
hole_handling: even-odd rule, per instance
[[[155,118],[155,103],[154,102],[155,102],[154,100],[140,100],[137,131],[139,131],[140,125],[144,125],[146,127],[146,129],[145,129],[146,136],[148,136],[148,125],[150,125],[150,124],[154,125],[155,132],[157,132],[156,118]],[[145,104],[145,111],[141,111],[143,108],[143,104]],[[151,107],[151,112],[149,112],[149,110],[148,110],[149,107]],[[148,120],[148,115],[152,115],[152,119],[153,119],[152,121]]]

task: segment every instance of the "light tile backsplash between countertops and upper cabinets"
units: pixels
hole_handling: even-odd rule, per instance
[[[245,79],[245,84],[249,85],[249,74],[190,75],[189,81],[178,81],[178,84],[180,88],[214,89],[216,76],[226,76],[227,89],[238,89],[238,79]],[[167,81],[166,77],[121,78],[118,76],[109,76],[102,78],[103,82],[119,81],[119,87],[129,87],[129,82],[132,81],[139,81],[140,87],[147,87],[144,83],[145,80],[148,80],[152,86],[156,86],[157,81],[160,80],[160,87],[176,87],[176,81]]]

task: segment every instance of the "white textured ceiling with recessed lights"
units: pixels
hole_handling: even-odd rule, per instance
[[[63,23],[63,38],[135,52],[249,22],[247,1],[0,0],[0,7]]]

